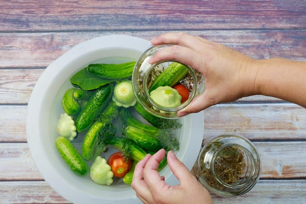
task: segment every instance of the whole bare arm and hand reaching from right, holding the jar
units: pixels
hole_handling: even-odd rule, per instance
[[[178,116],[259,94],[306,107],[306,62],[255,60],[219,43],[185,33],[167,33],[152,40],[153,45],[165,43],[175,45],[157,51],[150,63],[180,61],[205,77],[204,93],[178,111]]]

